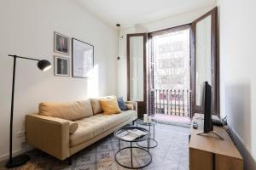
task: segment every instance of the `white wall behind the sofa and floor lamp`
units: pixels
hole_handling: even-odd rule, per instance
[[[42,72],[38,70],[36,62],[18,59],[15,87],[15,152],[20,151],[22,140],[15,138],[16,133],[24,130],[25,115],[38,111],[38,103],[116,94],[117,31],[86,12],[73,0],[1,0],[0,160],[9,152],[13,60],[7,55],[49,59],[53,63],[54,31],[93,44],[95,71],[89,79],[55,77],[53,69]],[[67,58],[71,59],[71,55]]]

